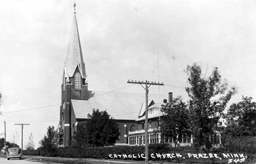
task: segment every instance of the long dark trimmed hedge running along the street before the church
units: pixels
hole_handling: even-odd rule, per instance
[[[70,158],[81,158],[81,159],[123,159],[123,160],[144,160],[141,156],[144,155],[144,146],[114,146],[114,147],[94,147],[94,148],[79,148],[79,147],[68,147],[68,148],[57,148],[54,151],[47,152],[43,148],[38,150],[24,150],[24,155],[41,155],[41,156],[59,156],[59,157],[70,157]],[[225,149],[214,149],[211,154],[216,154],[218,157],[223,157],[222,153],[238,153]],[[149,160],[167,160],[171,162],[182,162],[182,163],[228,163],[228,158],[219,160],[217,158],[208,157],[207,159],[195,157],[189,157],[188,154],[207,154],[203,150],[198,150],[195,147],[169,147],[168,144],[149,144]],[[151,154],[155,156],[151,157]],[[173,154],[176,157],[164,157],[162,154]],[[182,157],[177,157],[177,154]],[[255,162],[256,156],[243,152],[247,156],[247,162]],[[114,157],[114,155],[116,155]],[[117,156],[120,155],[120,156]],[[125,157],[123,155],[134,155],[132,157]],[[159,157],[158,155],[162,155]],[[207,154],[207,156],[210,156]],[[185,157],[185,158],[183,158]]]

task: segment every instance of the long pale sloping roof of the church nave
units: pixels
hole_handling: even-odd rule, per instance
[[[107,110],[107,113],[117,120],[136,120],[142,103],[146,101],[145,94],[125,92],[89,91],[89,99],[72,99],[72,106],[77,119],[85,119],[92,109]],[[162,97],[162,95],[160,95]],[[149,95],[157,99],[158,95]]]

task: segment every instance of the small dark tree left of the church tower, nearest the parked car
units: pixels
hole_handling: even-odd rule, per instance
[[[46,156],[54,156],[55,150],[57,148],[57,131],[54,129],[54,126],[49,126],[47,128],[47,133],[42,140],[40,140],[39,144],[45,151]]]

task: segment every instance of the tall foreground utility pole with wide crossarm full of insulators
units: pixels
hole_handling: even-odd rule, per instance
[[[140,84],[145,90],[146,90],[146,110],[145,110],[145,163],[148,164],[148,89],[151,85],[164,85],[162,83],[156,83],[156,82],[149,82],[146,80],[145,82],[143,81],[130,81],[128,80],[127,83],[132,83],[132,84]],[[145,84],[145,87],[142,85]],[[149,86],[148,86],[149,85]]]

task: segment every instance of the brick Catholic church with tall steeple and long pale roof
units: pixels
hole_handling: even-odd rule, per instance
[[[77,125],[86,121],[92,109],[107,110],[118,123],[120,136],[117,144],[129,144],[129,131],[138,130],[139,112],[145,108],[145,94],[91,91],[86,82],[85,62],[79,38],[76,12],[74,10],[71,36],[61,85],[60,145],[67,147],[74,139]],[[126,81],[124,81],[126,84]],[[149,100],[159,95],[149,95]],[[162,99],[162,95],[160,95]],[[133,134],[134,135],[134,134]]]

